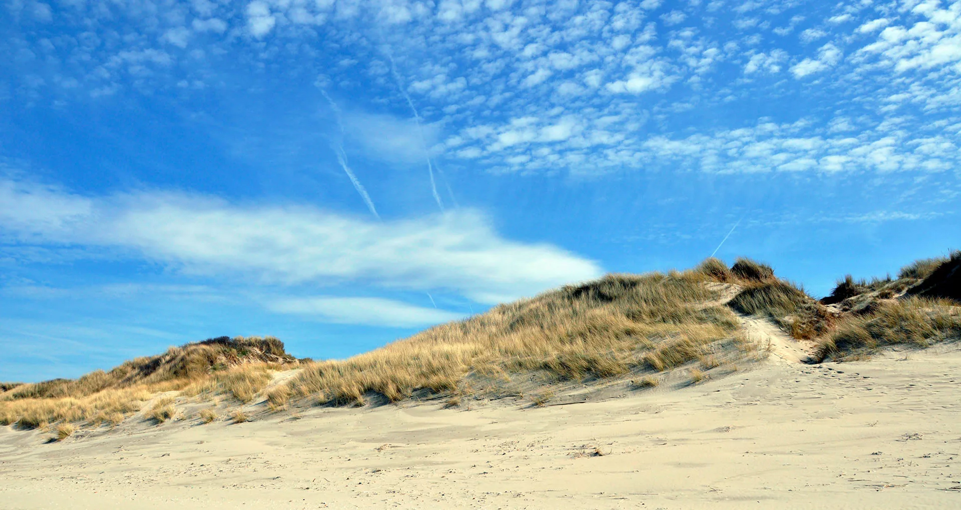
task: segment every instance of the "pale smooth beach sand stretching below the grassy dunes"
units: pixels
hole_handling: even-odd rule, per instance
[[[4,427],[0,508],[961,508],[961,352],[902,357],[544,408]]]

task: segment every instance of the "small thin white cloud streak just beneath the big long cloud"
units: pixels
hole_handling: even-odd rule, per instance
[[[383,298],[318,296],[266,300],[267,309],[334,324],[414,328],[462,319],[463,314]]]

